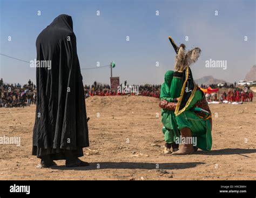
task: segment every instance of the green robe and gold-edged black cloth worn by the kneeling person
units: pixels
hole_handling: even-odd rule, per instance
[[[188,78],[188,73],[190,73],[190,78]],[[189,68],[184,72],[184,75],[185,76],[183,76],[182,79],[173,78],[171,86],[171,93],[172,90],[176,90],[177,92],[177,89],[181,87],[181,93],[179,93],[181,96],[176,111],[174,111],[174,114],[176,115],[176,124],[178,125],[178,129],[184,127],[190,128],[192,136],[197,137],[197,147],[203,151],[210,151],[212,147],[210,120],[198,117],[198,115],[193,112],[192,108],[197,101],[204,97],[204,94],[202,94],[200,90],[197,90],[197,85],[193,81],[192,73]],[[187,83],[187,80],[190,80],[190,82]],[[188,84],[193,87],[191,92],[185,91]],[[188,90],[190,90],[190,87]],[[180,108],[181,105],[183,105],[182,108]]]

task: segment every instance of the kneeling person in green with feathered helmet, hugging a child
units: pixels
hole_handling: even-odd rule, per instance
[[[175,108],[175,120],[177,128],[180,130],[180,138],[176,143],[183,143],[179,151],[173,152],[174,155],[184,155],[193,153],[194,147],[204,151],[210,151],[212,146],[212,119],[211,111],[205,100],[204,94],[194,83],[190,65],[195,63],[199,57],[200,49],[196,47],[185,52],[185,45],[178,47],[169,37],[174,50],[177,53],[174,69],[174,77],[171,84],[171,93],[177,94],[178,102],[172,104]],[[161,103],[161,108],[169,105]],[[173,109],[172,108],[172,109]],[[194,147],[193,147],[194,146]]]

